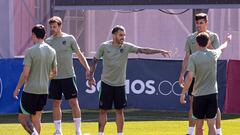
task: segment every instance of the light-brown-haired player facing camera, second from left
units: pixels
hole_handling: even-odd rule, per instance
[[[76,135],[81,135],[81,111],[77,98],[78,89],[73,67],[73,53],[76,53],[77,58],[86,70],[86,74],[89,74],[89,65],[76,39],[72,35],[62,32],[62,19],[58,16],[53,16],[48,22],[52,35],[46,39],[46,42],[56,50],[58,61],[58,74],[51,80],[49,86],[49,98],[53,99],[53,120],[56,128],[54,134],[62,135],[61,103],[63,94],[72,109],[73,121],[76,126]]]

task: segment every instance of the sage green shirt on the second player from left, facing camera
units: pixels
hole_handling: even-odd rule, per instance
[[[66,33],[61,37],[50,36],[46,43],[52,46],[57,54],[58,74],[55,79],[75,77],[72,55],[80,48],[74,36]]]

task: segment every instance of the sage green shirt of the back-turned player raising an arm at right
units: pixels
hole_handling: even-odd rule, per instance
[[[217,87],[217,59],[220,49],[197,51],[189,58],[187,71],[194,73],[195,82],[193,96],[203,96],[218,93]]]

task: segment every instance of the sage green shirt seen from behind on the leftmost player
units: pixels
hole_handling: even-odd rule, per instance
[[[30,67],[24,90],[32,94],[48,94],[49,75],[57,66],[56,52],[46,43],[37,43],[26,52],[24,65]]]

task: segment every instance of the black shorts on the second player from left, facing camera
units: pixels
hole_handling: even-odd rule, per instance
[[[66,79],[53,79],[49,86],[50,99],[61,100],[64,95],[66,100],[77,98],[78,89],[75,77]]]

